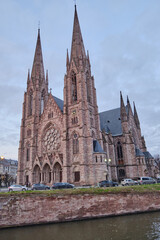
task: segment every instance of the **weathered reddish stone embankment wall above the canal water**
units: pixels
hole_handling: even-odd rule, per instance
[[[0,228],[160,210],[160,193],[0,196]]]

